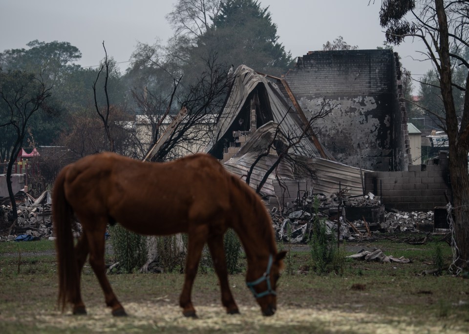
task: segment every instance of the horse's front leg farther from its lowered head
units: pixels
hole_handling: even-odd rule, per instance
[[[207,233],[204,231],[204,229],[204,226],[200,226],[196,231],[189,233],[186,258],[186,275],[184,278],[184,287],[182,288],[181,296],[179,297],[179,305],[182,307],[182,313],[184,316],[194,318],[197,317],[197,315],[195,314],[195,309],[192,305],[191,293],[195,275],[197,274],[197,267],[199,266],[202,249],[204,248],[204,244],[207,240]]]

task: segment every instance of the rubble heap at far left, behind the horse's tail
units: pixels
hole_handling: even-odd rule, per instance
[[[25,192],[18,192],[15,195],[17,204],[18,220],[12,224],[11,205],[9,198],[1,199],[1,228],[0,241],[15,240],[18,236],[31,236],[28,240],[46,239],[52,236],[52,200],[49,192],[34,199]]]

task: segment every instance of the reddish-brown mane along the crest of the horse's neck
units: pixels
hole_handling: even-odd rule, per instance
[[[272,229],[272,220],[270,218],[269,213],[267,212],[267,208],[260,199],[259,195],[254,191],[253,188],[243,182],[243,180],[229,172],[227,173],[229,174],[229,183],[231,183],[231,186],[239,190],[241,200],[244,201],[243,206],[245,206],[245,208],[252,208],[254,210],[254,216],[256,217],[257,221],[250,223],[255,224],[255,226],[258,228],[258,231],[256,232],[259,233],[259,235],[263,235],[270,238],[269,246],[273,248],[271,249],[271,251],[276,251],[277,244],[275,242],[275,235]],[[239,202],[239,199],[235,198],[235,196],[233,196],[233,193],[231,194],[231,197],[232,203]],[[242,208],[238,208],[241,216],[239,219],[242,219],[241,209]]]

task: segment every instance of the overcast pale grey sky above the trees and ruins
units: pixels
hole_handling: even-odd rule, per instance
[[[123,70],[138,42],[165,42],[172,31],[165,19],[175,0],[0,0],[0,50],[26,47],[26,43],[69,42],[82,52],[83,67],[98,65],[108,55]],[[361,49],[382,46],[379,25],[381,1],[368,0],[260,0],[269,6],[279,41],[293,57],[320,50],[342,36]],[[431,64],[414,59],[423,46],[408,40],[395,47],[402,63],[418,79]],[[414,84],[416,85],[416,84]],[[414,92],[415,89],[414,89]]]

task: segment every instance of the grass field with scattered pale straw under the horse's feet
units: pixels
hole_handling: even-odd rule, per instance
[[[308,247],[290,249],[293,275],[280,278],[277,313],[263,317],[246,288],[243,273],[230,276],[241,314],[227,315],[211,270],[196,278],[192,300],[198,319],[182,316],[178,307],[183,275],[119,274],[109,280],[129,316],[113,318],[90,267],[82,291],[88,315],[61,313],[56,307],[57,278],[53,242],[0,243],[1,333],[469,333],[469,280],[421,276],[434,267],[440,245],[446,266],[447,244],[433,236],[426,245],[410,245],[409,236],[347,243],[356,249],[379,248],[412,263],[368,263],[347,259],[343,275],[307,271]],[[393,239],[393,240],[391,240]],[[112,263],[112,255],[107,262]],[[241,264],[243,267],[244,264]]]

